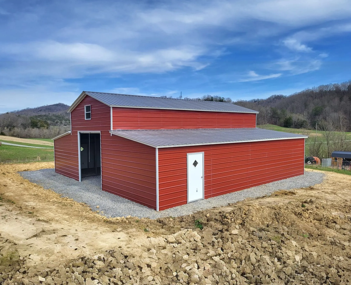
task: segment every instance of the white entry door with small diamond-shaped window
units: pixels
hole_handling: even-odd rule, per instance
[[[204,198],[204,153],[187,154],[188,202]]]

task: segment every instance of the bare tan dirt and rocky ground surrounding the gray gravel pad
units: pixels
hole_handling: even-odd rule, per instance
[[[351,284],[351,176],[179,218],[107,219],[17,173],[51,167],[0,164],[0,284]]]

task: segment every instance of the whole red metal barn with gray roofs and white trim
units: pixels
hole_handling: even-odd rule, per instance
[[[68,112],[55,171],[157,211],[304,174],[306,136],[231,103],[83,91]]]

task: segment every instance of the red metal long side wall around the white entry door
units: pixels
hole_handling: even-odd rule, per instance
[[[304,174],[304,139],[160,148],[159,210],[187,203],[186,154],[204,152],[205,198]]]

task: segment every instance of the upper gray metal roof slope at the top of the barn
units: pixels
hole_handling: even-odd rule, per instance
[[[108,106],[258,113],[232,103],[83,91]]]

